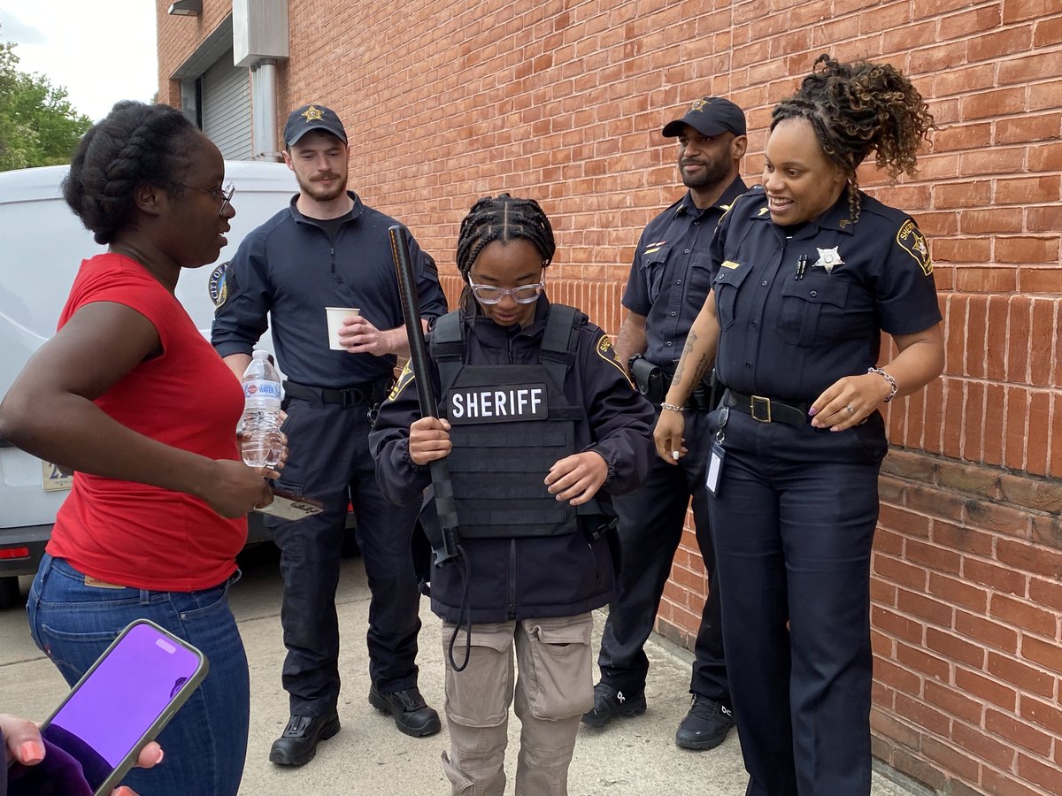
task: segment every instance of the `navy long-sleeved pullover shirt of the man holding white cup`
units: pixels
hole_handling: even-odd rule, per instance
[[[404,323],[388,227],[394,219],[364,205],[354,209],[336,240],[295,207],[298,196],[240,244],[225,274],[226,300],[218,309],[210,342],[222,357],[251,353],[267,328],[277,364],[291,381],[342,390],[391,376],[396,358],[347,353],[328,347],[325,307],[357,307],[377,329]],[[435,262],[407,230],[421,313],[446,312]]]

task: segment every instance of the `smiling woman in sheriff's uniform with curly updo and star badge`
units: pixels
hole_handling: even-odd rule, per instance
[[[870,793],[870,554],[886,453],[878,408],[943,368],[929,252],[858,190],[876,152],[914,173],[932,118],[893,67],[821,56],[773,111],[764,185],[713,243],[713,290],[654,433],[715,359],[727,387],[708,485],[748,796]],[[898,354],[876,367],[880,332]]]

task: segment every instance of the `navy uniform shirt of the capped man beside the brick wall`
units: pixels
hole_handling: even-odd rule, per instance
[[[682,356],[689,327],[708,295],[708,245],[716,224],[744,190],[736,177],[719,201],[703,210],[687,191],[641,233],[623,306],[646,317],[645,357],[650,362],[669,367]]]

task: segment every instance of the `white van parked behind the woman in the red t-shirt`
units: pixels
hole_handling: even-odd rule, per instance
[[[103,250],[63,200],[59,186],[68,170],[56,166],[0,172],[0,396],[55,333],[81,261]],[[236,186],[228,245],[218,264],[188,269],[177,282],[177,298],[207,339],[217,265],[298,191],[284,163],[226,161],[225,179]],[[260,345],[268,348],[271,342],[266,335]],[[70,481],[0,438],[0,608],[17,602],[18,576],[36,572]]]

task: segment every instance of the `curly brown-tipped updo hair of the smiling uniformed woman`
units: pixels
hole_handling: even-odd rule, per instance
[[[928,106],[898,69],[829,55],[816,58],[800,90],[774,106],[771,129],[798,118],[810,123],[823,154],[847,177],[852,223],[859,220],[859,163],[873,150],[890,179],[914,176],[919,145],[933,127]]]

